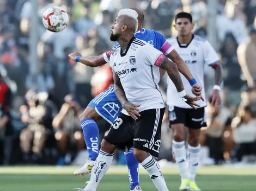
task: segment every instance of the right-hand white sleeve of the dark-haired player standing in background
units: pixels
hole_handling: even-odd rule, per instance
[[[208,41],[204,42],[204,62],[212,68],[221,64],[218,54]]]

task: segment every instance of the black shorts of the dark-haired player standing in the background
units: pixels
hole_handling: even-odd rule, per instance
[[[187,128],[200,129],[206,126],[204,107],[197,110],[185,109],[176,106],[168,106],[168,116],[170,128],[173,124],[182,123]]]

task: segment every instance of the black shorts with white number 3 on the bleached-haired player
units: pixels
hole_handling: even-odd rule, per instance
[[[158,158],[161,143],[161,126],[165,108],[140,112],[137,120],[120,113],[104,137],[118,149],[129,151],[131,147],[149,152]]]

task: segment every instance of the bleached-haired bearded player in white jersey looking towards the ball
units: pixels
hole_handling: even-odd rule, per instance
[[[147,170],[156,188],[168,190],[155,160],[159,155],[165,110],[157,85],[160,80],[159,67],[167,71],[182,101],[192,107],[199,106],[194,101],[200,97],[186,94],[176,64],[151,44],[135,38],[137,17],[135,10],[123,9],[111,27],[111,40],[118,41],[120,45],[111,52],[109,65],[114,72],[115,94],[124,110],[101,142],[100,154],[84,191],[96,190],[112,163],[116,148],[127,151],[131,147],[135,158]]]

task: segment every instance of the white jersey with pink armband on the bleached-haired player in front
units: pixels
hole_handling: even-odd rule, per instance
[[[139,111],[164,107],[162,94],[157,85],[160,80],[159,64],[164,55],[151,44],[132,37],[125,53],[120,45],[111,52],[109,65],[118,75],[126,99],[140,104]],[[122,111],[128,114],[126,111]]]

